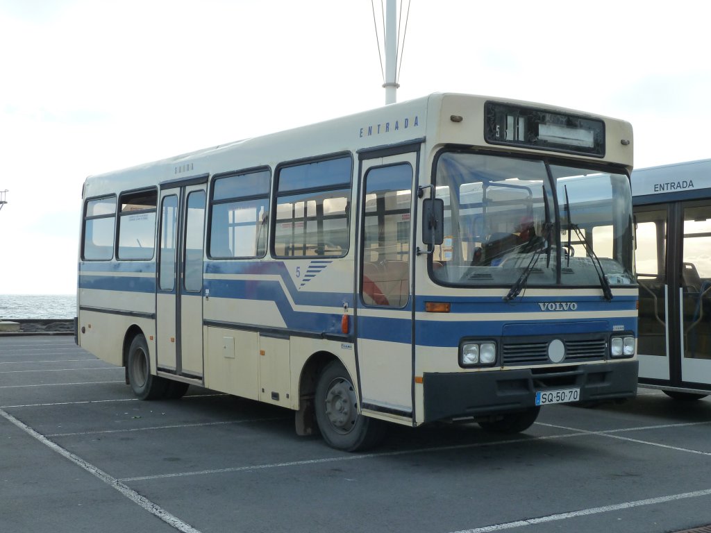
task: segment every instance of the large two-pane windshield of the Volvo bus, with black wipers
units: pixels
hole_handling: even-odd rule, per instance
[[[629,178],[542,160],[447,152],[437,161],[442,284],[599,286],[634,283]]]

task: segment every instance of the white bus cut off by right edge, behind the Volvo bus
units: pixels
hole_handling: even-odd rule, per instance
[[[632,173],[639,382],[675,399],[711,393],[711,160]]]

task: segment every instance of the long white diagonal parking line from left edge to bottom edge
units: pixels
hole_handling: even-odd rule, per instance
[[[38,433],[37,431],[32,429],[27,424],[24,424],[23,422],[19,421],[11,414],[8,414],[5,411],[3,411],[2,409],[0,409],[0,416],[3,416],[4,419],[10,421],[12,424],[15,424],[15,426],[17,426],[19,429],[22,429],[27,434],[33,436],[34,438],[36,438],[38,441],[43,443],[45,446],[47,446],[51,450],[59,453],[60,456],[63,456],[64,458],[69,459],[69,461],[72,461],[75,465],[79,466],[80,468],[83,468],[88,473],[95,475],[97,478],[102,480],[104,483],[106,483],[110,487],[118,490],[122,495],[129,498],[129,500],[136,503],[137,505],[142,507],[144,510],[150,512],[151,515],[154,515],[155,517],[158,517],[159,519],[166,522],[166,524],[169,524],[169,526],[174,527],[175,529],[178,529],[178,531],[183,532],[183,533],[200,533],[200,531],[198,529],[195,529],[190,524],[183,522],[181,519],[179,519],[175,515],[171,515],[171,513],[164,510],[158,504],[151,502],[151,500],[149,500],[145,496],[141,496],[138,492],[136,492],[132,488],[127,487],[126,485],[121,483],[116,478],[112,478],[112,476],[108,475],[103,470],[100,470],[99,468],[95,467],[91,463],[87,463],[79,456],[75,456],[75,454],[71,453],[70,451],[65,450],[64,448],[59,446],[57,443],[50,441],[48,438],[46,438],[42,434]]]

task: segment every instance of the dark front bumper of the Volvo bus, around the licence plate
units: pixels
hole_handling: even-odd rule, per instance
[[[637,394],[636,360],[567,367],[425,373],[424,421],[490,416],[535,407],[535,393],[579,387],[580,402],[631,398]]]

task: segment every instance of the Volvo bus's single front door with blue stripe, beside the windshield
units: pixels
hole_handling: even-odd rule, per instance
[[[356,327],[363,411],[412,418],[412,186],[417,152],[361,154]]]

